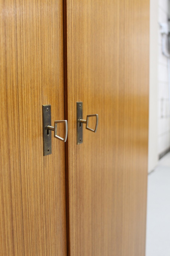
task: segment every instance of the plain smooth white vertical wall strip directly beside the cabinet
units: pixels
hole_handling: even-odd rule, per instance
[[[150,0],[150,86],[148,171],[158,162],[158,0]]]

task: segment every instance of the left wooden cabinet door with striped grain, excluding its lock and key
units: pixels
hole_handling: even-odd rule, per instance
[[[42,131],[42,105],[64,119],[62,0],[0,0],[0,69],[0,256],[65,256],[64,143],[43,156]]]

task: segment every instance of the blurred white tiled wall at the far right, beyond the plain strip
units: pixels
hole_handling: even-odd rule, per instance
[[[159,0],[158,21],[168,23],[169,0]],[[170,115],[168,92],[168,59],[161,52],[161,34],[158,27],[158,154],[170,148]]]

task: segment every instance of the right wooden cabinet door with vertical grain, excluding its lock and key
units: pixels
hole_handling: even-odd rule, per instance
[[[64,0],[64,15],[68,254],[144,256],[149,0]],[[78,101],[99,117],[79,145]]]

